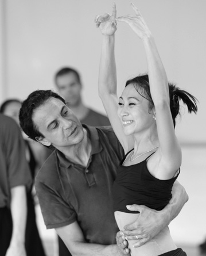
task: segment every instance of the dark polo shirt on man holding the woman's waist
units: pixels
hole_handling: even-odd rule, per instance
[[[83,127],[92,145],[87,167],[55,150],[37,174],[37,196],[46,228],[77,221],[87,242],[112,244],[118,227],[111,186],[124,152],[111,127]]]

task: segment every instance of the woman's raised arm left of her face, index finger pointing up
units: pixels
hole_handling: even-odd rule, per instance
[[[102,52],[99,65],[99,96],[107,112],[108,119],[125,152],[133,147],[133,138],[125,136],[122,123],[117,115],[118,96],[116,93],[116,63],[115,63],[115,31],[116,5],[113,3],[112,14],[96,16],[96,26],[102,32]]]

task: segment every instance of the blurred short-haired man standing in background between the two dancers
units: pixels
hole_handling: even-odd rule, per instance
[[[81,124],[91,126],[110,125],[106,116],[100,114],[83,104],[81,98],[82,83],[79,72],[71,67],[61,68],[55,75],[55,85],[61,97],[69,104]]]

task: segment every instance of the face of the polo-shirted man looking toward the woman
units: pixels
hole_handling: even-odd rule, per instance
[[[45,146],[52,144],[63,151],[63,148],[75,146],[84,138],[80,121],[64,102],[50,98],[33,113],[33,122],[38,131],[44,135],[40,140]]]

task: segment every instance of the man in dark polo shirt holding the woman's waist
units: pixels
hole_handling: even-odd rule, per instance
[[[20,125],[31,139],[56,148],[36,177],[46,227],[55,228],[72,255],[128,254],[119,233],[115,244],[111,186],[123,150],[112,129],[82,126],[64,99],[50,90],[34,91],[22,103]],[[182,186],[174,188],[162,211],[130,207],[140,215],[125,227],[127,239],[141,246],[177,216],[188,198]]]

